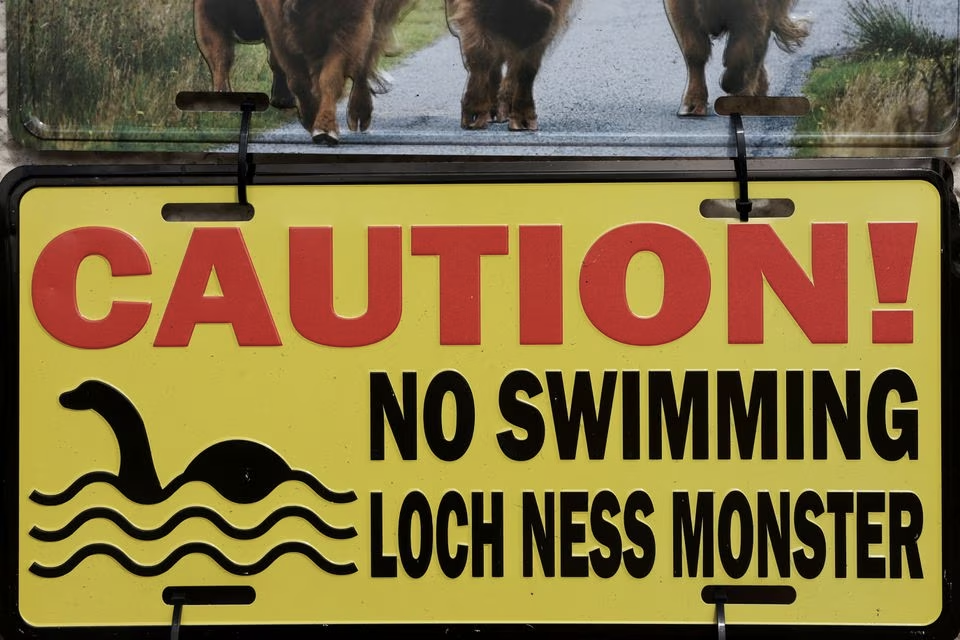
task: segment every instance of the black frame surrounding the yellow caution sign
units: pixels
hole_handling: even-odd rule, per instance
[[[236,171],[229,165],[88,165],[21,167],[0,183],[0,221],[3,225],[0,300],[4,320],[3,353],[0,366],[0,638],[35,640],[118,640],[171,637],[172,627],[35,628],[18,610],[18,428],[19,425],[19,320],[18,320],[18,227],[19,203],[31,189],[49,186],[184,186],[230,185]],[[954,594],[960,569],[960,491],[957,469],[960,464],[960,406],[953,390],[960,381],[960,335],[948,331],[960,326],[960,210],[953,195],[949,166],[939,160],[755,160],[750,163],[750,180],[925,180],[941,194],[942,355],[941,443],[943,504],[943,608],[941,617],[923,628],[894,626],[734,626],[728,632],[736,638],[760,640],[775,635],[800,639],[816,635],[824,639],[906,640],[929,638],[953,640],[960,631],[960,602]],[[736,180],[733,163],[721,160],[637,160],[560,161],[535,163],[523,160],[476,162],[412,161],[383,158],[354,159],[347,163],[317,164],[302,158],[267,158],[257,164],[255,184],[414,184],[414,183],[502,183],[502,182],[702,182]],[[169,594],[167,594],[169,595]],[[166,600],[166,595],[165,595]],[[176,595],[168,602],[175,604]],[[289,638],[356,638],[367,636],[403,638],[593,638],[626,640],[650,638],[716,638],[714,625],[290,625],[290,626],[190,626],[189,597],[184,600],[184,633],[190,638],[237,638],[253,640],[265,633]],[[495,603],[491,603],[495,606]],[[731,604],[731,607],[736,606]],[[171,622],[178,617],[171,608]],[[178,631],[178,630],[176,630]]]

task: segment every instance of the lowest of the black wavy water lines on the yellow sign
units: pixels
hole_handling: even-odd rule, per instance
[[[327,560],[323,554],[303,542],[284,542],[267,552],[263,558],[249,565],[237,564],[228,558],[222,551],[213,545],[205,542],[191,542],[183,545],[167,556],[159,564],[153,566],[137,564],[131,560],[123,551],[109,544],[91,544],[81,548],[74,553],[63,564],[56,567],[45,567],[34,562],[30,565],[30,573],[41,578],[62,578],[77,566],[91,556],[109,556],[116,560],[121,567],[140,578],[155,578],[172,569],[180,560],[188,555],[202,554],[220,565],[227,573],[235,576],[254,576],[266,571],[274,561],[280,556],[290,553],[298,553],[305,556],[317,568],[335,576],[348,576],[357,572],[357,565],[350,562],[348,564],[336,564]]]

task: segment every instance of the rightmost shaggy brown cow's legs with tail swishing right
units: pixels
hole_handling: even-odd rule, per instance
[[[721,88],[732,95],[765,96],[764,60],[771,34],[784,51],[793,51],[810,34],[809,25],[790,17],[796,0],[664,0],[670,25],[687,63],[687,90],[677,112],[707,114],[704,67],[711,39],[726,33]]]

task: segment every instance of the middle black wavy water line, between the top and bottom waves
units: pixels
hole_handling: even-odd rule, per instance
[[[60,542],[72,536],[87,522],[102,519],[109,520],[117,525],[121,531],[135,540],[153,541],[169,535],[184,521],[191,518],[208,520],[220,529],[222,533],[234,540],[253,540],[254,538],[259,538],[270,531],[278,522],[286,518],[300,518],[305,520],[319,533],[334,540],[349,540],[357,535],[357,530],[353,527],[334,527],[327,524],[323,518],[313,511],[305,507],[291,505],[277,509],[252,529],[241,529],[230,524],[223,516],[209,507],[187,507],[170,516],[169,520],[156,529],[141,529],[131,523],[118,511],[106,507],[95,507],[82,511],[61,529],[47,530],[33,527],[30,529],[30,537],[40,540],[41,542]]]

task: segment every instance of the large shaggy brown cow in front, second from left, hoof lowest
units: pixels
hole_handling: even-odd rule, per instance
[[[287,76],[300,122],[316,142],[336,143],[337,102],[348,78],[351,131],[366,131],[379,87],[376,65],[412,0],[256,0],[268,46]]]

